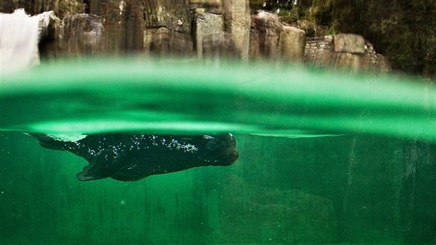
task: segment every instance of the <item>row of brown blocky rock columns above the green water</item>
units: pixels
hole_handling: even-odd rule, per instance
[[[320,35],[325,30],[309,21],[300,21],[296,27],[283,24],[276,13],[255,11],[264,8],[256,1],[89,0],[0,4],[1,11],[18,7],[28,12],[53,8],[62,17],[53,28],[53,38],[43,42],[42,53],[46,57],[143,53],[201,59],[271,59],[351,71],[390,71],[385,57],[375,53],[363,37],[307,37],[307,33]],[[347,40],[343,46],[355,43],[359,51],[334,48],[340,40]]]

